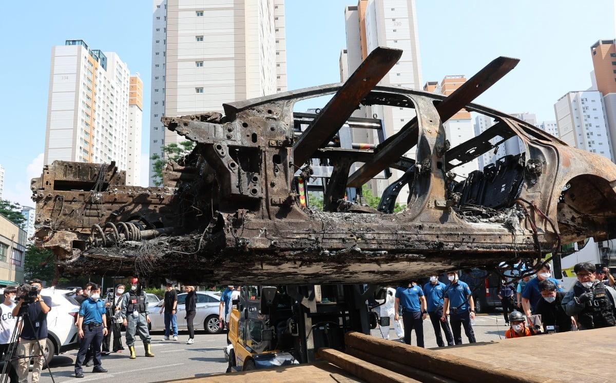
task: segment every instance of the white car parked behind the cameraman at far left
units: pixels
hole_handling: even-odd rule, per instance
[[[0,290],[0,294],[2,293],[4,289]],[[51,297],[51,310],[47,313],[47,342],[43,365],[45,368],[54,355],[79,348],[79,337],[75,326],[79,305],[73,298],[75,293],[71,290],[44,288],[41,290],[41,295]]]

